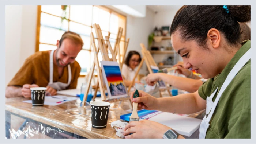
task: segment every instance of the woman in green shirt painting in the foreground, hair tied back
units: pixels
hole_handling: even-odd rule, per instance
[[[194,93],[155,98],[139,91],[131,100],[139,109],[170,113],[206,109],[199,138],[251,138],[251,41],[240,43],[238,23],[250,20],[250,6],[181,7],[170,28],[172,46],[186,69],[208,80]],[[129,122],[124,131],[125,138],[184,138],[149,120]]]

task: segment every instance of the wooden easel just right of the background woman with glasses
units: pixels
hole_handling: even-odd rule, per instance
[[[146,47],[144,46],[143,43],[140,43],[140,47],[142,48],[141,52],[142,52],[143,58],[142,58],[142,61],[140,61],[140,64],[139,64],[138,69],[137,69],[137,71],[136,71],[136,73],[135,73],[135,76],[134,76],[134,78],[132,79],[132,83],[131,83],[131,85],[130,85],[129,88],[128,88],[128,93],[130,92],[131,87],[133,86],[134,81],[135,81],[136,77],[138,76],[139,71],[140,71],[140,68],[142,67],[142,64],[143,64],[144,61],[146,62],[146,65],[147,65],[147,68],[148,68],[148,71],[149,71],[150,74],[153,74],[153,71],[152,71],[152,69],[151,69],[150,66],[157,66],[157,64],[155,63],[155,61],[154,61],[152,55],[151,55],[150,52],[146,49]],[[165,91],[165,90],[167,90],[167,92],[169,93],[169,95],[172,96],[172,94],[171,94],[170,91],[169,91],[170,89],[171,89],[171,88],[167,88],[167,87],[166,87],[166,88],[163,88],[163,89],[159,89],[159,91],[160,91],[160,97],[162,97],[161,91]]]

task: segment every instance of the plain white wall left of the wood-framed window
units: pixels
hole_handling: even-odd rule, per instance
[[[5,9],[5,84],[25,59],[35,52],[37,6],[6,6]]]

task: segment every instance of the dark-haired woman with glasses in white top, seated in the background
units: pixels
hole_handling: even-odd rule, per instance
[[[126,86],[131,85],[132,79],[135,77],[136,67],[139,65],[140,61],[141,57],[139,52],[129,51],[122,67],[122,75]],[[137,78],[135,79],[135,83],[139,83]]]

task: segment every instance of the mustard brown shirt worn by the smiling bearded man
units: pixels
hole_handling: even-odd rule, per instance
[[[70,64],[71,83],[67,89],[75,89],[80,74],[81,67],[77,61]],[[49,51],[39,51],[28,57],[23,66],[16,73],[14,78],[8,83],[8,86],[20,86],[24,84],[37,84],[40,87],[46,87],[50,78],[50,55]],[[53,82],[68,83],[68,67],[64,67],[63,74],[59,78],[58,68],[53,66]]]

